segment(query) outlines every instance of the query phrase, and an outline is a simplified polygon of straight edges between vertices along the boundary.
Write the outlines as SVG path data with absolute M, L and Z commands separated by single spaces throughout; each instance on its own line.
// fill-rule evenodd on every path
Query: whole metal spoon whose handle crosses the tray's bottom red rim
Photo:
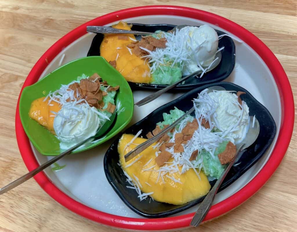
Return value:
M 253 116 L 250 116 L 250 120 L 253 120 Z M 237 144 L 236 147 L 238 147 L 238 151 L 236 153 L 235 158 L 233 159 L 233 161 L 227 166 L 227 168 L 225 169 L 225 171 L 222 173 L 222 175 L 220 176 L 220 178 L 217 180 L 217 182 L 214 184 L 214 186 L 212 187 L 212 189 L 208 192 L 208 194 L 206 195 L 206 197 L 204 198 L 204 200 L 201 202 L 200 206 L 198 207 L 198 210 L 196 211 L 190 225 L 192 226 L 198 226 L 202 220 L 205 218 L 206 214 L 208 213 L 209 209 L 211 208 L 211 204 L 214 201 L 214 197 L 217 194 L 217 191 L 219 189 L 219 186 L 221 186 L 223 180 L 225 179 L 227 173 L 229 172 L 230 168 L 233 166 L 233 164 L 235 162 L 238 161 L 238 158 L 240 158 L 240 156 L 242 155 L 242 150 L 244 150 L 245 148 L 249 147 L 250 145 L 252 145 L 260 132 L 260 125 L 258 120 L 255 118 L 255 124 L 254 127 L 252 127 L 252 123 L 251 126 L 249 128 L 249 131 L 247 132 L 247 135 L 244 139 L 244 141 L 242 141 L 241 143 Z

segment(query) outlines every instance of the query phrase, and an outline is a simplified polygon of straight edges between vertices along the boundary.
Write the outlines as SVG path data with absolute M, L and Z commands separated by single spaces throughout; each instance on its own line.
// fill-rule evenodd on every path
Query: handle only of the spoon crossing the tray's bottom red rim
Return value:
M 211 204 L 214 201 L 214 197 L 217 194 L 217 191 L 219 189 L 219 187 L 221 186 L 223 180 L 225 179 L 227 173 L 229 172 L 230 168 L 233 166 L 236 157 L 238 156 L 238 154 L 242 151 L 242 148 L 244 147 L 244 144 L 242 144 L 238 151 L 236 152 L 236 155 L 233 159 L 233 161 L 227 166 L 227 168 L 225 169 L 225 171 L 222 173 L 222 175 L 220 176 L 220 178 L 217 180 L 217 182 L 214 184 L 214 186 L 212 187 L 212 189 L 208 192 L 208 194 L 206 195 L 206 197 L 204 198 L 204 200 L 201 202 L 200 206 L 198 207 L 198 210 L 196 211 L 190 225 L 192 226 L 198 226 L 202 220 L 205 218 L 206 214 L 208 213 L 209 209 L 211 208 Z

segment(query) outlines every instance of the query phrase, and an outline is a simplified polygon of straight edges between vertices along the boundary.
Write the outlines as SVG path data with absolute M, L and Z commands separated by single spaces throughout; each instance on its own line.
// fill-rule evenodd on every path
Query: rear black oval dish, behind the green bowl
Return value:
M 157 30 L 165 31 L 171 30 L 175 27 L 175 25 L 170 24 L 138 24 L 138 23 L 132 23 L 132 30 L 136 31 L 143 31 L 143 32 L 155 32 Z M 218 35 L 226 34 L 225 32 L 221 32 L 216 30 Z M 89 49 L 89 52 L 87 56 L 100 56 L 100 44 L 103 40 L 102 34 L 97 34 L 92 40 L 91 47 Z M 141 36 L 136 36 L 137 40 L 140 40 Z M 179 84 L 176 87 L 172 88 L 170 91 L 176 92 L 180 90 L 192 90 L 194 88 L 197 88 L 199 86 L 205 85 L 205 84 L 211 84 L 218 81 L 225 80 L 230 73 L 233 71 L 233 68 L 235 66 L 235 44 L 233 40 L 228 37 L 224 36 L 219 40 L 219 48 L 225 47 L 222 52 L 222 60 L 219 63 L 219 65 L 214 69 L 211 70 L 203 75 L 203 77 L 196 78 L 196 77 L 190 77 L 185 81 L 184 84 Z M 129 85 L 132 90 L 137 89 L 163 89 L 167 85 L 164 84 L 144 84 L 144 83 L 134 83 L 129 82 Z

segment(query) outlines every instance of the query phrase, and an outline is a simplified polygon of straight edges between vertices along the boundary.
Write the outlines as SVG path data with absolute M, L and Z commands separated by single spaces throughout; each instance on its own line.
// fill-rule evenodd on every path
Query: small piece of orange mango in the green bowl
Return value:
M 55 114 L 51 113 L 51 111 L 58 112 L 61 106 L 55 101 L 51 101 L 48 104 L 48 101 L 43 101 L 44 99 L 45 97 L 38 98 L 31 103 L 29 116 L 47 128 L 51 133 L 56 134 L 54 130 Z

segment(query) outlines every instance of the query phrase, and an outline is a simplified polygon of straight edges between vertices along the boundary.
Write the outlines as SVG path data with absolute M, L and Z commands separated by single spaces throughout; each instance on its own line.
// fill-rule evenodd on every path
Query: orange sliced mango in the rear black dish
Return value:
M 131 30 L 131 27 L 123 21 L 120 21 L 112 27 Z M 127 40 L 119 39 L 123 36 L 126 37 Z M 130 50 L 131 54 L 127 48 L 128 44 L 134 42 L 133 40 L 135 40 L 134 35 L 105 35 L 100 45 L 100 55 L 108 62 L 116 60 L 116 70 L 118 70 L 127 81 L 150 83 L 151 74 L 149 64 L 144 59 L 133 54 L 133 49 Z

